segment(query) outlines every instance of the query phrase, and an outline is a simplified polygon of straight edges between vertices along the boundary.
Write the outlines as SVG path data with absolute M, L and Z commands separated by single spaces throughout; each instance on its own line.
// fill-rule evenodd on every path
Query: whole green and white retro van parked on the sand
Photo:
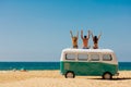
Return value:
M 63 49 L 60 73 L 66 78 L 78 76 L 102 76 L 111 79 L 118 75 L 118 61 L 110 49 Z

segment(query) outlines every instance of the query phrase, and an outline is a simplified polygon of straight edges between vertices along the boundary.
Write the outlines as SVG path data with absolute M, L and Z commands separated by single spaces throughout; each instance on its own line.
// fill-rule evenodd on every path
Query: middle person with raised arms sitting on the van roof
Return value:
M 88 49 L 88 39 L 90 39 L 91 32 L 88 30 L 87 36 L 83 37 L 83 30 L 81 30 L 81 38 L 83 41 L 83 49 Z

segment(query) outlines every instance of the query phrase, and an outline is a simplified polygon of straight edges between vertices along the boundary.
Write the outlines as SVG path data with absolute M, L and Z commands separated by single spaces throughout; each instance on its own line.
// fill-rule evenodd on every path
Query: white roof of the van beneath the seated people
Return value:
M 110 49 L 74 49 L 74 48 L 67 48 L 63 49 L 62 52 L 114 52 Z

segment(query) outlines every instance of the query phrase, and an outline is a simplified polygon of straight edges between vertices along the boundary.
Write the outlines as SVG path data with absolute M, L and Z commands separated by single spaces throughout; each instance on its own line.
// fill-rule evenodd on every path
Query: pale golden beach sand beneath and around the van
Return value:
M 131 87 L 131 71 L 120 71 L 111 80 L 100 76 L 64 78 L 59 71 L 0 71 L 0 87 Z

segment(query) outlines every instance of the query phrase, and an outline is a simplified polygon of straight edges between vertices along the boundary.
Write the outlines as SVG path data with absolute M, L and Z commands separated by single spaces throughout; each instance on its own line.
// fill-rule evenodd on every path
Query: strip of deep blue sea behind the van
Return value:
M 0 71 L 9 70 L 60 70 L 60 62 L 0 62 Z M 119 62 L 120 71 L 131 71 L 131 62 Z

